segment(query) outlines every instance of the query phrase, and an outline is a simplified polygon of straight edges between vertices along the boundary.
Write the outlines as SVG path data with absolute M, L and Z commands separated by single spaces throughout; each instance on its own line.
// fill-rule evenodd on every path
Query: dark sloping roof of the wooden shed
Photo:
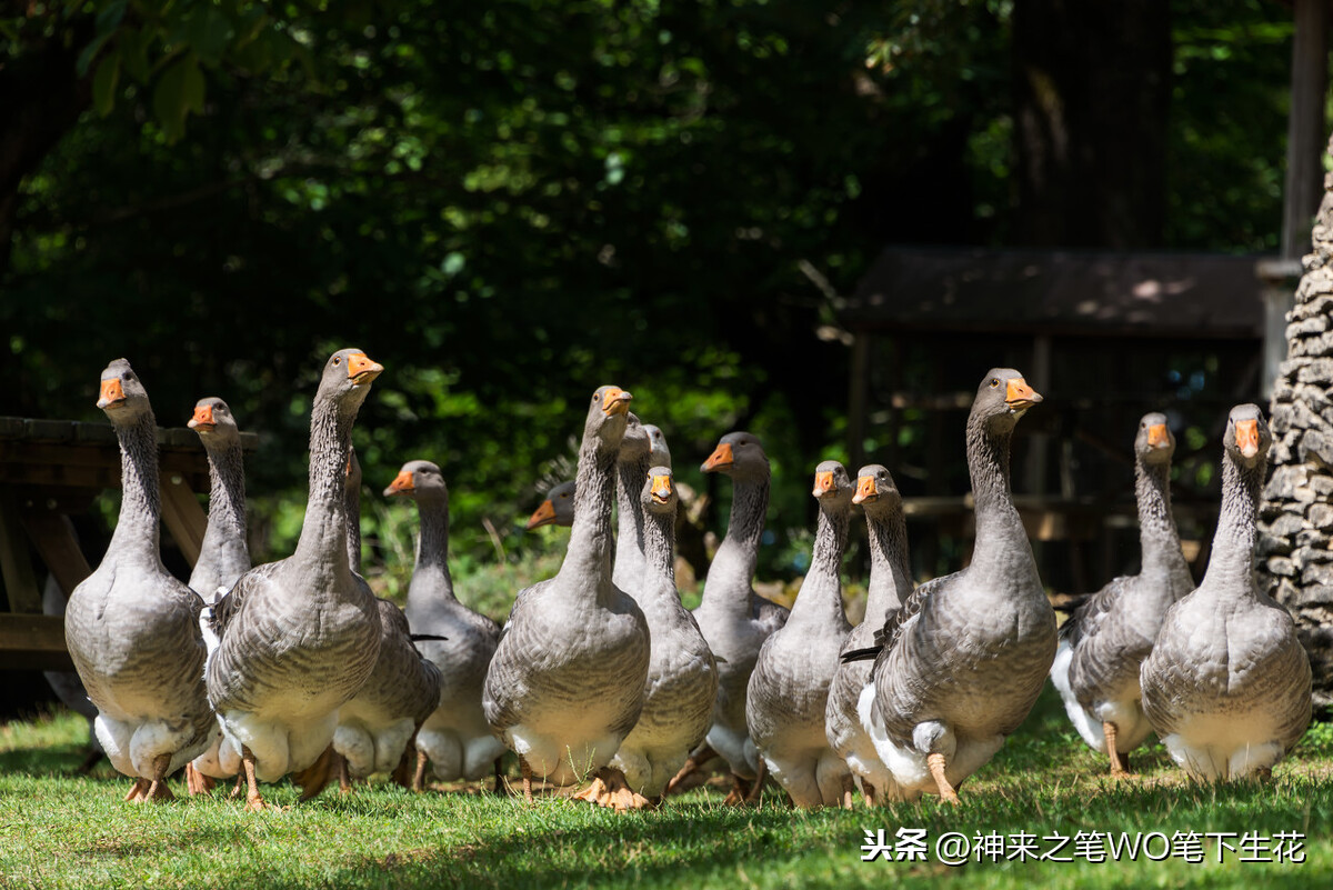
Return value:
M 841 310 L 852 330 L 1258 340 L 1262 257 L 886 248 Z

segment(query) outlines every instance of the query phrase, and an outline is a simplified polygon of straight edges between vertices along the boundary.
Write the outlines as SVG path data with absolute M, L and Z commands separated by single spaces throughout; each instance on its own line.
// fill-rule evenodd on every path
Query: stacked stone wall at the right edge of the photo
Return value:
M 1329 151 L 1333 152 L 1333 144 Z M 1314 705 L 1333 711 L 1333 175 L 1313 250 L 1288 313 L 1273 389 L 1273 474 L 1260 512 L 1261 584 L 1296 618 L 1314 669 Z

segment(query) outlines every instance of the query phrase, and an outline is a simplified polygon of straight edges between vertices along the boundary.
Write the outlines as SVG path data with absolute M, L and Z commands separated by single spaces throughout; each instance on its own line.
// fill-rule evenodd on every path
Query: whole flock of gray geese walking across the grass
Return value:
M 1254 405 L 1230 412 L 1212 560 L 1196 589 L 1170 512 L 1174 440 L 1146 414 L 1134 440 L 1140 574 L 1086 597 L 1057 628 L 1009 490 L 1009 446 L 1041 401 L 994 369 L 966 422 L 976 502 L 969 565 L 914 586 L 902 498 L 889 470 L 837 461 L 814 470 L 813 556 L 786 609 L 757 596 L 769 496 L 760 441 L 724 436 L 702 469 L 734 486 L 726 534 L 693 613 L 673 574 L 678 493 L 665 437 L 631 394 L 592 394 L 577 477 L 552 489 L 529 528 L 572 525 L 559 572 L 517 593 L 501 629 L 453 592 L 449 494 L 440 468 L 409 461 L 385 496 L 416 501 L 416 566 L 405 609 L 359 573 L 360 466 L 352 426 L 383 372 L 359 349 L 329 357 L 311 416 L 309 502 L 295 553 L 251 565 L 236 420 L 201 400 L 208 532 L 189 584 L 159 552 L 156 421 L 125 360 L 101 373 L 123 501 L 111 545 L 73 590 L 65 637 L 95 733 L 135 779 L 127 799 L 291 775 L 303 799 L 337 779 L 391 773 L 501 789 L 500 758 L 533 781 L 591 779 L 577 798 L 656 805 L 706 761 L 732 773 L 728 801 L 765 775 L 800 807 L 937 794 L 981 769 L 1028 715 L 1048 675 L 1112 775 L 1156 731 L 1193 778 L 1269 775 L 1310 719 L 1310 668 L 1290 616 L 1253 580 L 1270 434 Z M 613 517 L 613 505 L 616 505 Z M 861 508 L 870 544 L 865 620 L 842 610 L 841 564 Z M 613 525 L 616 526 L 613 530 Z

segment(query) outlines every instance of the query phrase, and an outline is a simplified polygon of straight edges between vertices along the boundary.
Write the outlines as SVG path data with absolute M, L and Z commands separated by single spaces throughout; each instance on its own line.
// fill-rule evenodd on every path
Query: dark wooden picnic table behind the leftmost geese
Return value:
M 241 433 L 241 448 L 259 437 Z M 193 565 L 208 517 L 196 492 L 208 490 L 208 458 L 187 428 L 157 430 L 161 516 L 167 533 Z M 64 594 L 92 569 L 69 517 L 87 512 L 105 489 L 120 486 L 120 445 L 109 424 L 0 417 L 0 670 L 71 670 L 64 620 L 41 613 L 33 554 Z

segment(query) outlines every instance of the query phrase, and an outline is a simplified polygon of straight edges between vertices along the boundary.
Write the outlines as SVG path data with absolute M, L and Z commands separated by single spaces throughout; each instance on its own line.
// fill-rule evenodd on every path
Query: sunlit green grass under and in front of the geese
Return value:
M 1137 753 L 1138 775 L 1117 783 L 1076 743 L 1050 689 L 964 786 L 956 810 L 932 798 L 878 811 L 801 813 L 773 790 L 758 809 L 732 810 L 713 786 L 659 811 L 616 814 L 559 798 L 528 809 L 513 798 L 412 795 L 380 783 L 257 815 L 217 793 L 132 806 L 120 799 L 128 779 L 105 765 L 91 777 L 69 775 L 85 737 L 83 721 L 68 714 L 0 726 L 0 887 L 1326 887 L 1333 874 L 1329 725 L 1312 729 L 1270 785 L 1185 783 L 1161 747 Z M 180 783 L 173 790 L 184 794 Z M 287 783 L 265 794 L 296 801 Z M 880 827 L 890 839 L 898 827 L 926 829 L 929 861 L 861 862 L 864 830 Z M 1140 857 L 949 867 L 933 850 L 946 831 L 1300 831 L 1306 861 L 1226 854 L 1218 865 L 1205 841 L 1200 865 Z

